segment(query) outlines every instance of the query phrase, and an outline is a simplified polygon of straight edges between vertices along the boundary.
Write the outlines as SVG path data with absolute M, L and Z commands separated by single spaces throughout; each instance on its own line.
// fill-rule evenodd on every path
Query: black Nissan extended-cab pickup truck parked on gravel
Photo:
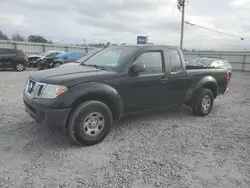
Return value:
M 82 145 L 100 142 L 126 114 L 186 104 L 205 116 L 230 80 L 225 69 L 186 68 L 171 46 L 109 47 L 83 59 L 30 74 L 23 92 L 30 116 Z

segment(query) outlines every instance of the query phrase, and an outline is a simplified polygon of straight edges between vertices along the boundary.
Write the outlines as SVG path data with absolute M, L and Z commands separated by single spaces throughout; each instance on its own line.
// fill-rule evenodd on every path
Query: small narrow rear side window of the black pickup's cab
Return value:
M 170 71 L 178 72 L 182 69 L 181 57 L 178 50 L 168 49 Z

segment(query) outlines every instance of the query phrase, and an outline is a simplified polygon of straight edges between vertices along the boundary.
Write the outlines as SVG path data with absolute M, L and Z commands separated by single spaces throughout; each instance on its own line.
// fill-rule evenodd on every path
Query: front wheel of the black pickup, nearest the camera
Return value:
M 71 113 L 67 131 L 75 143 L 94 145 L 107 136 L 112 123 L 113 116 L 106 104 L 99 101 L 87 101 Z

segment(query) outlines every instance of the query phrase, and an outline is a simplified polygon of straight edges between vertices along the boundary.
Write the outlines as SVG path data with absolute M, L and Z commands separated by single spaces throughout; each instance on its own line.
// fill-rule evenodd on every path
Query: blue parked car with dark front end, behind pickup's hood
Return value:
M 39 69 L 49 69 L 49 68 L 56 68 L 62 64 L 74 62 L 77 59 L 85 56 L 85 54 L 81 52 L 65 52 L 60 54 L 54 58 L 44 58 L 39 63 Z

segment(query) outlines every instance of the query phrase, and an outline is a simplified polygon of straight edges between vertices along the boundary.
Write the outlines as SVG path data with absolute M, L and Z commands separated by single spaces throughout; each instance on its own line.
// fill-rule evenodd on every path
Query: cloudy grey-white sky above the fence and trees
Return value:
M 0 30 L 11 36 L 39 34 L 55 43 L 179 46 L 177 0 L 1 0 Z M 229 37 L 185 25 L 184 48 L 249 49 L 250 0 L 189 0 L 185 21 L 243 37 Z

